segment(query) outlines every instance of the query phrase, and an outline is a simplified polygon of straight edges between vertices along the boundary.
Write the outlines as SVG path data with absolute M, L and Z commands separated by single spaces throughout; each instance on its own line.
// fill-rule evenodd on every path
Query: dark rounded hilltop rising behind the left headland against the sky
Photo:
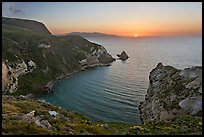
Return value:
M 43 23 L 37 22 L 34 20 L 2 17 L 2 24 L 14 25 L 14 26 L 30 29 L 32 31 L 39 32 L 41 34 L 51 34 L 51 32 L 49 32 L 49 30 Z

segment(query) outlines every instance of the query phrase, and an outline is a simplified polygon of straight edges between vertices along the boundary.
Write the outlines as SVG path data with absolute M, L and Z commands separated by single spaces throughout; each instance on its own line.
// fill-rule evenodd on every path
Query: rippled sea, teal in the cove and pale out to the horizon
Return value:
M 147 92 L 149 73 L 159 62 L 178 69 L 202 66 L 202 37 L 87 39 L 115 58 L 123 50 L 130 58 L 58 81 L 56 92 L 42 99 L 93 121 L 141 124 L 138 105 Z

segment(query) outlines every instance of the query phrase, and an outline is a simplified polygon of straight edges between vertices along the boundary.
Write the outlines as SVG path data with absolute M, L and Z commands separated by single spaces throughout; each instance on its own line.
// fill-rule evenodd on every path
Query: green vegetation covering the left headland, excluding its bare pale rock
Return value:
M 11 66 L 21 60 L 36 63 L 32 73 L 18 77 L 18 90 L 12 95 L 44 94 L 44 85 L 80 70 L 79 61 L 85 59 L 86 54 L 91 54 L 91 49 L 101 47 L 81 36 L 54 36 L 11 24 L 2 24 L 3 61 L 8 60 Z M 41 44 L 50 47 L 40 48 Z

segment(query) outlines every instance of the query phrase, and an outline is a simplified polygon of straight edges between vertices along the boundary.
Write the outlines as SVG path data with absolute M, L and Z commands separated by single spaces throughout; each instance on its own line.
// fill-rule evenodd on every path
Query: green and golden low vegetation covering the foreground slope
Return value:
M 181 116 L 169 121 L 151 121 L 143 125 L 117 122 L 93 122 L 75 112 L 23 97 L 3 96 L 2 134 L 5 135 L 187 135 L 202 134 L 202 117 Z M 43 115 L 51 129 L 34 122 L 23 121 L 19 116 L 35 110 L 35 116 Z M 48 111 L 56 111 L 64 117 L 53 117 Z

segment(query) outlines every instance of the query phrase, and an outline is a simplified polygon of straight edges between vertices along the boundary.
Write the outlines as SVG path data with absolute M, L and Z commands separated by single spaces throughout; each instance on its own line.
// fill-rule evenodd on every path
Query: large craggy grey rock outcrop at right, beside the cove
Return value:
M 139 106 L 144 122 L 202 112 L 202 67 L 178 70 L 159 63 L 149 75 L 145 100 Z

